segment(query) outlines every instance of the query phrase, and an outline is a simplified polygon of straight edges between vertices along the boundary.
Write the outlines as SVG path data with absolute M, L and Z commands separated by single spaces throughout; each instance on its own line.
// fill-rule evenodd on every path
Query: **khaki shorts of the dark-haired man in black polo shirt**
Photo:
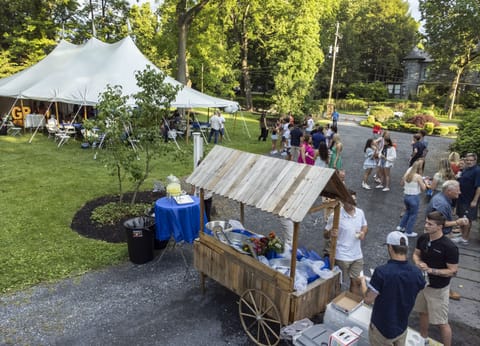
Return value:
M 443 288 L 425 287 L 418 293 L 413 309 L 428 314 L 430 324 L 447 324 L 449 293 L 450 285 Z

